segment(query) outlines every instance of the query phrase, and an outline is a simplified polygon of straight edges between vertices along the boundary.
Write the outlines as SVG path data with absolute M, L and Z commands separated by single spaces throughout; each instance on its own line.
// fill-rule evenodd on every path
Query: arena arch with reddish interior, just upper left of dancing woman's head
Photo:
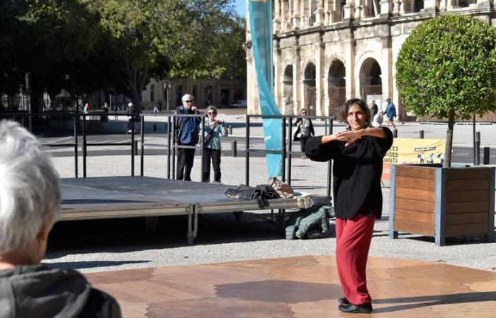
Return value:
M 342 61 L 334 60 L 329 67 L 327 82 L 329 86 L 329 116 L 336 116 L 339 107 L 346 101 L 346 69 Z

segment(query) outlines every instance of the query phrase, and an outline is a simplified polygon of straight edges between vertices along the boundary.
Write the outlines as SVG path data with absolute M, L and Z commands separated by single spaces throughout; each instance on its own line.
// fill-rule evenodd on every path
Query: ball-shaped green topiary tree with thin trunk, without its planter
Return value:
M 407 110 L 448 119 L 444 167 L 451 165 L 455 119 L 496 110 L 496 28 L 470 16 L 420 23 L 396 62 L 396 83 Z

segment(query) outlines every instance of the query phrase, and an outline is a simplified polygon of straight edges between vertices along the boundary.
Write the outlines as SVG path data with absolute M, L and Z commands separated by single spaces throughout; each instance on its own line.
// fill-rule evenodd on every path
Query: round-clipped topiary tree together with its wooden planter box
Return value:
M 496 110 L 496 28 L 470 16 L 438 16 L 417 25 L 396 62 L 407 110 L 447 119 L 442 167 L 391 169 L 390 236 L 483 234 L 494 240 L 494 167 L 451 167 L 455 119 Z

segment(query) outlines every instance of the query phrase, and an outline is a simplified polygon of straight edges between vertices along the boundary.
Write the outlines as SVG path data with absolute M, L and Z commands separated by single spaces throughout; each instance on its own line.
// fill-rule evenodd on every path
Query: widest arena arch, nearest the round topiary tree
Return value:
M 383 95 L 383 81 L 381 78 L 381 66 L 378 62 L 369 57 L 360 67 L 360 93 L 361 98 L 368 104 L 376 100 L 379 107 L 381 96 Z

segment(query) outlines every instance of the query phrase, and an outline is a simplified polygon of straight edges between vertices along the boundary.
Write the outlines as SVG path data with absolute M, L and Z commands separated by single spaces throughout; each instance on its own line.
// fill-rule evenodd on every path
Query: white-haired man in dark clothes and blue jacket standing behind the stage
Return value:
M 193 96 L 185 94 L 183 105 L 176 108 L 176 114 L 199 114 L 193 105 Z M 198 125 L 200 117 L 176 117 L 176 146 L 195 146 L 198 143 Z M 177 148 L 176 179 L 191 181 L 191 169 L 195 159 L 194 148 Z

